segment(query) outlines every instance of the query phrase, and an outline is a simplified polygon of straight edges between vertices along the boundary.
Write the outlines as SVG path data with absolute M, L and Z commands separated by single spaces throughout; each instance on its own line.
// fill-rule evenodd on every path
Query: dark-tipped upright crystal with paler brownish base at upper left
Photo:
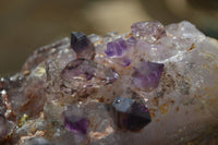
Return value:
M 77 58 L 94 59 L 95 47 L 84 33 L 71 33 L 71 48 L 76 52 Z

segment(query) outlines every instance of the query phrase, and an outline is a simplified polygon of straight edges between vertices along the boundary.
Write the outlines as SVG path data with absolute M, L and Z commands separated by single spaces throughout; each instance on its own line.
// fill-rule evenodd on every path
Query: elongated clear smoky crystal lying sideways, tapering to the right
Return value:
M 99 87 L 114 82 L 119 74 L 111 68 L 97 62 L 77 59 L 71 61 L 61 72 L 63 84 L 73 89 Z

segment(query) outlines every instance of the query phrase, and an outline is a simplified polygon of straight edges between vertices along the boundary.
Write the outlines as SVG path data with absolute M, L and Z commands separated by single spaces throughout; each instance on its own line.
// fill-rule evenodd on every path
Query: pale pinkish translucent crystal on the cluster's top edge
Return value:
M 144 37 L 148 43 L 155 43 L 166 35 L 165 27 L 159 22 L 137 22 L 131 29 L 135 37 Z

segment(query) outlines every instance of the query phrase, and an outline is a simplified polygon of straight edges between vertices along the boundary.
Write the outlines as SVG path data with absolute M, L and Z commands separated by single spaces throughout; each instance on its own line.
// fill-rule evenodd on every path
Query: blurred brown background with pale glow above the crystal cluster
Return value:
M 136 21 L 187 20 L 218 38 L 217 0 L 1 0 L 0 75 L 20 71 L 26 58 L 72 31 L 130 32 Z

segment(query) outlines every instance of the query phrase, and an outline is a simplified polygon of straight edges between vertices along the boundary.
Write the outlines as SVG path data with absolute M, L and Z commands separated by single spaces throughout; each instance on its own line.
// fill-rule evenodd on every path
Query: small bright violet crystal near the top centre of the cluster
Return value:
M 119 38 L 107 44 L 105 53 L 108 57 L 121 57 L 126 49 L 126 43 L 122 38 Z

